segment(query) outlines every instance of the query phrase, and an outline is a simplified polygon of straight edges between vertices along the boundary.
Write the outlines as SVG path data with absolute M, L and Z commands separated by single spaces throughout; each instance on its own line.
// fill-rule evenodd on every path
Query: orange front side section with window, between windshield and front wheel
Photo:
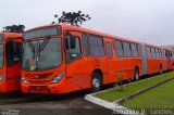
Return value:
M 65 55 L 66 55 L 66 77 L 72 79 L 70 90 L 80 90 L 90 87 L 89 75 L 87 74 L 87 61 L 82 53 L 82 35 L 71 33 L 64 37 Z

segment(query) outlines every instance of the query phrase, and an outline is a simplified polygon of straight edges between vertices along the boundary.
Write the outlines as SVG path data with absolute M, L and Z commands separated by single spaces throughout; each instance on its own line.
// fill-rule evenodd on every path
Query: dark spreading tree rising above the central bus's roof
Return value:
M 78 12 L 62 12 L 62 16 L 54 15 L 58 18 L 58 23 L 71 24 L 75 26 L 80 26 L 84 22 L 89 21 L 91 17 L 88 14 L 83 14 L 82 11 Z M 52 22 L 54 24 L 54 22 Z

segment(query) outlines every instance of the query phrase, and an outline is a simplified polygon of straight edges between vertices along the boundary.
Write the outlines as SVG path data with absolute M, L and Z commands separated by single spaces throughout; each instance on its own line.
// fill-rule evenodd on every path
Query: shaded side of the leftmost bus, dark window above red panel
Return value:
M 9 89 L 18 90 L 21 85 L 21 43 L 8 41 L 7 50 L 7 79 Z

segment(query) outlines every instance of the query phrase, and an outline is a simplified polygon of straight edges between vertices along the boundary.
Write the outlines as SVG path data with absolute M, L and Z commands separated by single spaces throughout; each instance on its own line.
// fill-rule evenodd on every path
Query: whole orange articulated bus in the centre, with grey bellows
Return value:
M 138 80 L 158 73 L 161 65 L 165 71 L 162 48 L 82 27 L 46 25 L 25 31 L 24 39 L 24 93 L 67 93 L 87 88 L 98 91 L 120 78 Z M 147 47 L 157 49 L 156 59 L 147 56 Z

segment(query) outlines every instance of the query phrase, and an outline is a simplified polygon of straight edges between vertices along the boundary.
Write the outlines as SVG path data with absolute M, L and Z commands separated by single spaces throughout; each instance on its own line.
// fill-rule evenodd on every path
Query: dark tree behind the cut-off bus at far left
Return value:
M 24 33 L 24 25 L 11 25 L 3 27 L 2 33 Z

